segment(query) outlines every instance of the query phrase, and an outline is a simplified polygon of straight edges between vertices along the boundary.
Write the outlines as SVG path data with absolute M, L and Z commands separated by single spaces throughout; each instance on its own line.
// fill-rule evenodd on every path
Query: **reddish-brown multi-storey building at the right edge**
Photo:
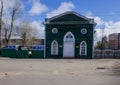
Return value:
M 113 50 L 120 49 L 120 33 L 113 33 L 109 35 L 109 48 Z

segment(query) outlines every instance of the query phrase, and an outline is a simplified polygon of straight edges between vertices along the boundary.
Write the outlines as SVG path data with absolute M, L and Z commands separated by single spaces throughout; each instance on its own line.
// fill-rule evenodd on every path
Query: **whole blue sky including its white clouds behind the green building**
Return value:
M 16 0 L 4 0 L 7 5 Z M 13 1 L 13 2 L 12 2 Z M 40 36 L 44 37 L 42 23 L 46 17 L 52 17 L 66 11 L 75 11 L 86 17 L 93 18 L 97 23 L 95 28 L 97 40 L 101 39 L 101 29 L 104 35 L 120 33 L 120 0 L 19 0 L 23 12 L 18 17 L 20 21 L 30 21 Z M 6 12 L 7 13 L 7 12 Z

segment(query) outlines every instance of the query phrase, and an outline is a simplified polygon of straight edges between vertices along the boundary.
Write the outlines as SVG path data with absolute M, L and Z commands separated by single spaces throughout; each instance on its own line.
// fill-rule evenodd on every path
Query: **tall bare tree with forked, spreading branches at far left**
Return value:
M 6 45 L 9 44 L 13 28 L 15 28 L 14 27 L 15 20 L 17 17 L 19 17 L 22 6 L 23 5 L 21 0 L 0 0 L 0 7 L 1 7 L 0 8 L 0 47 L 1 47 L 1 37 L 2 37 L 1 33 L 3 33 L 1 31 L 4 30 Z M 3 12 L 4 15 L 7 15 L 7 18 L 9 16 L 9 19 L 7 19 L 8 21 L 7 23 L 4 22 L 6 16 L 3 16 Z M 4 27 L 2 26 L 3 23 L 4 23 Z

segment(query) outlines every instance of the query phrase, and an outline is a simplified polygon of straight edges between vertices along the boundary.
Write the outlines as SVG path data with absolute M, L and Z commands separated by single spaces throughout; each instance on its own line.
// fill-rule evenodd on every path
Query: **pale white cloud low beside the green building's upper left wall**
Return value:
M 31 22 L 31 26 L 36 31 L 37 37 L 44 38 L 45 31 L 41 21 L 33 21 Z

